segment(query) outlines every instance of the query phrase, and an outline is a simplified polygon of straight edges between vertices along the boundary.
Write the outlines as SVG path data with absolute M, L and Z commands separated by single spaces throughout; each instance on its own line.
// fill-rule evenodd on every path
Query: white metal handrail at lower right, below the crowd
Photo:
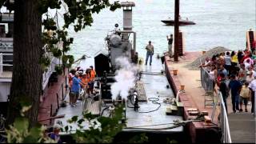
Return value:
M 221 127 L 222 127 L 222 142 L 232 143 L 230 136 L 230 125 L 226 114 L 226 107 L 223 101 L 222 93 L 218 90 L 218 96 L 221 99 Z

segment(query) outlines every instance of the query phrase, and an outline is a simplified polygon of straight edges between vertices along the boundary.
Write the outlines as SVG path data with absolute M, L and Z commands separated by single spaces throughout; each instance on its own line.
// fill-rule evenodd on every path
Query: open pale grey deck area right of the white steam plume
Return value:
M 178 115 L 166 115 L 166 107 L 170 107 L 170 104 L 164 103 L 163 100 L 166 98 L 173 98 L 175 94 L 170 89 L 169 82 L 167 81 L 166 75 L 161 74 L 161 70 L 164 69 L 160 59 L 152 58 L 152 66 L 148 65 L 139 66 L 139 69 L 142 70 L 141 81 L 138 81 L 140 84 L 139 89 L 142 91 L 141 102 L 138 103 L 140 108 L 138 112 L 135 112 L 134 109 L 128 108 L 126 110 L 127 115 L 127 127 L 138 127 L 144 126 L 141 128 L 150 128 L 155 130 L 133 130 L 126 129 L 126 131 L 139 131 L 139 132 L 151 132 L 151 133 L 182 133 L 183 126 L 178 128 L 169 129 L 169 130 L 158 130 L 164 129 L 166 127 L 174 126 L 174 124 L 165 125 L 165 126 L 153 126 L 163 123 L 171 123 L 174 120 L 183 120 L 182 116 Z M 156 100 L 155 102 L 160 103 L 154 104 L 150 99 Z M 160 107 L 158 107 L 160 106 Z M 151 112 L 150 112 L 151 111 Z

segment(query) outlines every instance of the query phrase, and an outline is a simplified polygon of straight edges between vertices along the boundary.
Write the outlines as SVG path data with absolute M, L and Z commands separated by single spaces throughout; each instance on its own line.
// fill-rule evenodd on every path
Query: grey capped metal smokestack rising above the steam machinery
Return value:
M 121 2 L 123 10 L 123 30 L 132 30 L 133 29 L 133 15 L 132 10 L 135 6 L 134 2 Z

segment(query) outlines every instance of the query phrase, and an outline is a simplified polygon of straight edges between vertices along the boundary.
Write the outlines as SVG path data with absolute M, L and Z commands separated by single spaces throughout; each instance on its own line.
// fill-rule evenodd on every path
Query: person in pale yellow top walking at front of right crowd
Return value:
M 242 102 L 245 104 L 245 111 L 248 112 L 247 110 L 247 102 L 248 99 L 250 98 L 250 89 L 249 89 L 249 83 L 245 82 L 245 84 L 242 86 L 242 89 L 240 91 L 240 112 L 242 112 Z

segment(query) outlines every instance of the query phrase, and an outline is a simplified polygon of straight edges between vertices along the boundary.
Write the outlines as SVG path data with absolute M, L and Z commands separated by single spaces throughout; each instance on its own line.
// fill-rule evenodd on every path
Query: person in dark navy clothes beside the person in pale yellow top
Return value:
M 229 90 L 231 91 L 231 101 L 233 112 L 236 113 L 236 110 L 239 110 L 239 90 L 241 90 L 241 83 L 236 80 L 235 75 L 230 76 Z

